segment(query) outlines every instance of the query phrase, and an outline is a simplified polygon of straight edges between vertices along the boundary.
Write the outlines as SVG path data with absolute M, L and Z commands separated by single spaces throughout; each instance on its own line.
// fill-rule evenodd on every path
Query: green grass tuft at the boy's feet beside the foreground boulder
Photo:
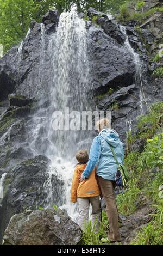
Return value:
M 92 227 L 91 221 L 89 221 L 87 225 L 85 223 L 85 230 L 83 232 L 83 237 L 82 237 L 82 241 L 84 245 L 102 245 L 102 241 L 99 240 L 99 236 L 103 236 L 104 238 L 107 237 L 106 231 L 108 230 L 109 223 L 108 223 L 108 217 L 106 216 L 106 213 L 104 210 L 102 211 L 102 222 L 97 232 L 95 229 L 95 225 L 96 225 L 96 221 L 93 227 Z

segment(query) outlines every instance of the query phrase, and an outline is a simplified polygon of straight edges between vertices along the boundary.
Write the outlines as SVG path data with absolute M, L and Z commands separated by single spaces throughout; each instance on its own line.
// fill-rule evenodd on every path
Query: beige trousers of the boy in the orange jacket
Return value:
M 100 200 L 99 196 L 97 197 L 85 197 L 81 198 L 78 197 L 78 204 L 79 204 L 79 226 L 82 230 L 85 229 L 85 222 L 86 224 L 89 221 L 89 209 L 90 209 L 90 204 L 92 206 L 92 228 L 94 227 L 95 223 L 95 229 L 94 231 L 97 231 L 99 228 L 100 224 Z M 96 222 L 95 222 L 96 220 Z

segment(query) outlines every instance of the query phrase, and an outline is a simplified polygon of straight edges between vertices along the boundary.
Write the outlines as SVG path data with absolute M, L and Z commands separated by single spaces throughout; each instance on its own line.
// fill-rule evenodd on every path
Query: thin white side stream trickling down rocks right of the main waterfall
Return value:
M 126 28 L 124 26 L 120 25 L 120 29 L 121 29 L 121 32 L 126 35 L 126 41 L 124 42 L 124 47 L 126 47 L 129 54 L 131 54 L 131 56 L 133 57 L 134 63 L 135 63 L 135 67 L 136 67 L 135 83 L 139 85 L 140 112 L 141 112 L 141 114 L 143 114 L 143 99 L 146 101 L 146 97 L 145 97 L 145 94 L 143 93 L 142 64 L 141 64 L 140 56 L 138 53 L 136 53 L 134 51 L 133 47 L 131 47 L 129 39 L 128 39 L 128 35 L 126 32 Z

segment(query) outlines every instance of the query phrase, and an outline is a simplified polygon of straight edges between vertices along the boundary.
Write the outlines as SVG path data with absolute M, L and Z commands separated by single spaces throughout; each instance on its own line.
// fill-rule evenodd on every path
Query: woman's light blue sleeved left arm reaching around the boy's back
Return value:
M 97 166 L 100 153 L 101 153 L 101 147 L 98 142 L 98 136 L 97 136 L 93 139 L 93 142 L 91 145 L 89 161 L 87 162 L 87 166 L 82 174 L 83 179 L 89 178 L 89 175 L 91 174 L 92 170 L 95 168 L 95 166 Z

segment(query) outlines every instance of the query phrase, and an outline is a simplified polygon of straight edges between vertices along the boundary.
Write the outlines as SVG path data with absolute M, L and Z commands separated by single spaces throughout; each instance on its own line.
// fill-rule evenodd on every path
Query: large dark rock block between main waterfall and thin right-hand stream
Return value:
M 88 33 L 93 89 L 103 92 L 133 83 L 135 63 L 127 50 L 101 28 L 91 26 Z

